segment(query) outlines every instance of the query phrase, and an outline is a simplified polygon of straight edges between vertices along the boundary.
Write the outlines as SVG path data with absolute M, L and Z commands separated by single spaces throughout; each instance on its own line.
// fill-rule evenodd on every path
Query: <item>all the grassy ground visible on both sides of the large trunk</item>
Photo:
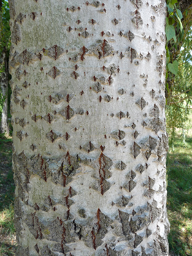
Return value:
M 0 255 L 15 255 L 13 225 L 14 183 L 11 170 L 11 139 L 0 138 Z M 192 134 L 185 146 L 180 135 L 174 151 L 167 158 L 167 208 L 171 232 L 169 251 L 172 256 L 192 255 Z

